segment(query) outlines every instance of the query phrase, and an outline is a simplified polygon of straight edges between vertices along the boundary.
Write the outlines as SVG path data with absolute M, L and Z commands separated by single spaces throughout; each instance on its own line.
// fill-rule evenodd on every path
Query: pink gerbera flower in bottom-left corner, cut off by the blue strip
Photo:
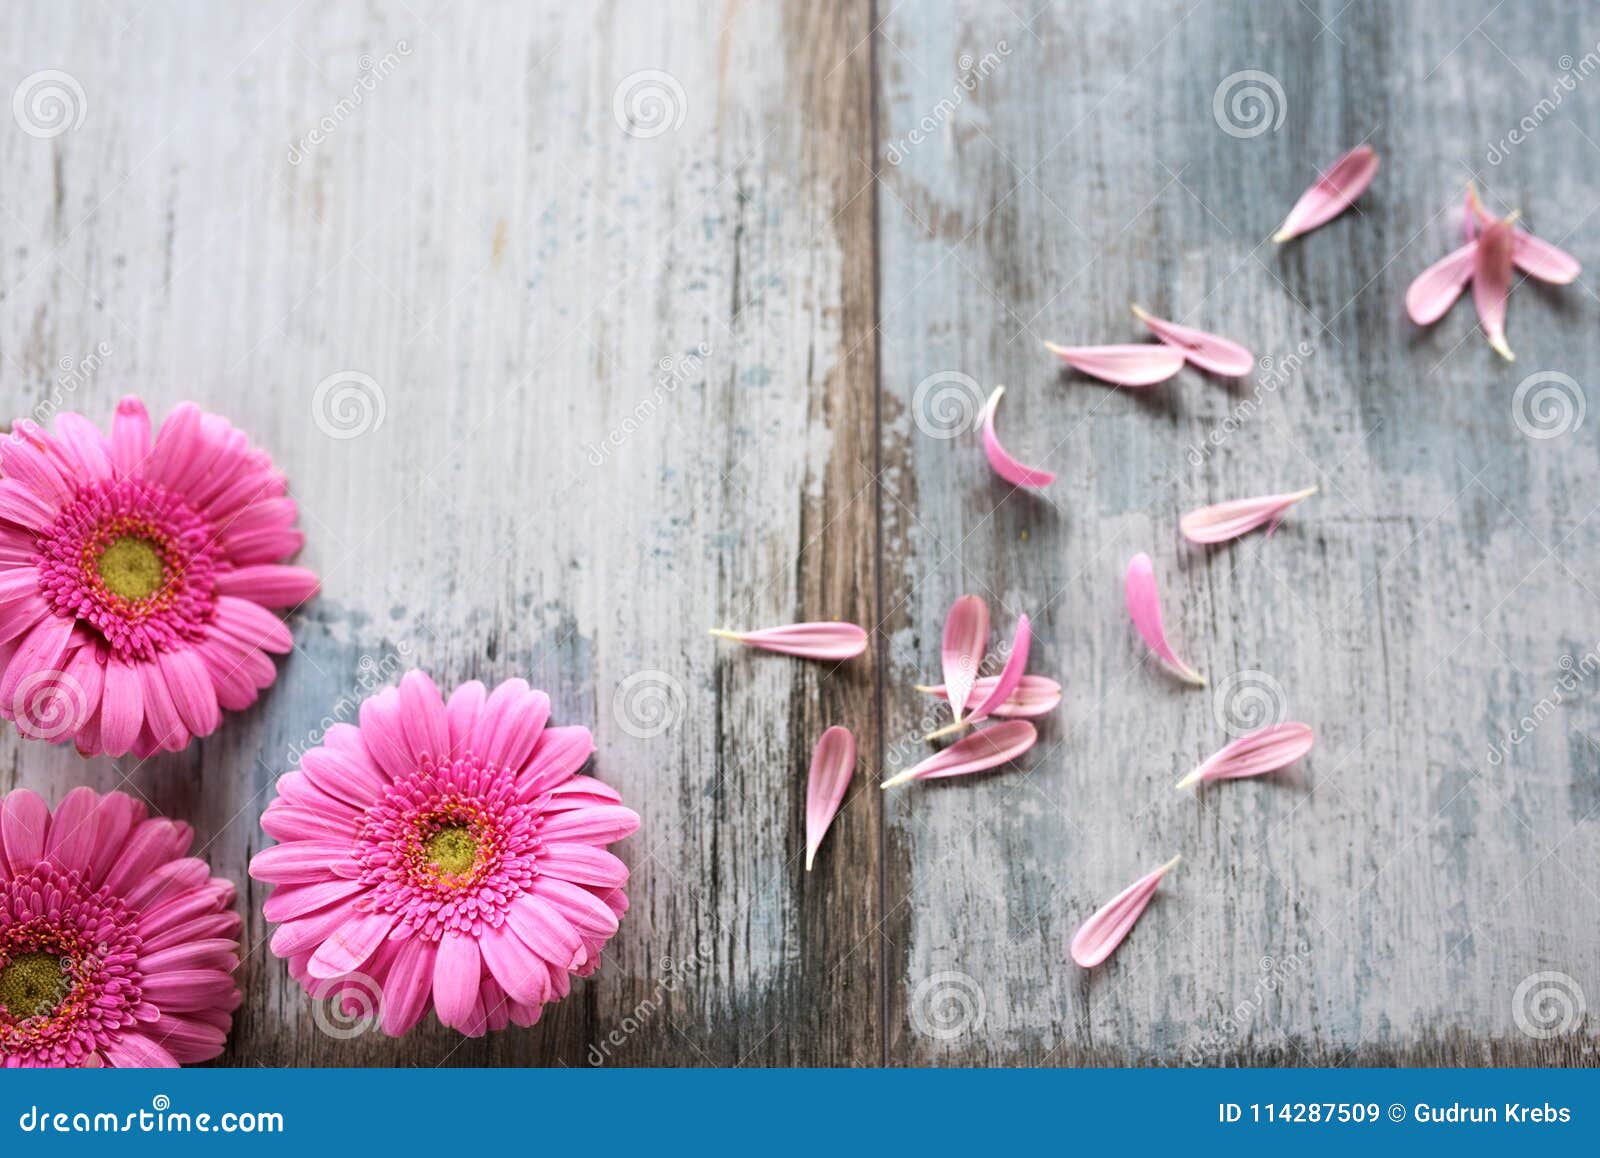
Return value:
M 222 1052 L 238 1008 L 234 886 L 194 832 L 74 789 L 0 800 L 0 1065 L 178 1065 Z

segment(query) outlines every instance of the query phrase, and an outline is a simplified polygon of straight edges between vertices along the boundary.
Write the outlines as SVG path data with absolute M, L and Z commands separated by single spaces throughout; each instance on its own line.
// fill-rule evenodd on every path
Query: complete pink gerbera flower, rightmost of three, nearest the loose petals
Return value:
M 445 704 L 410 672 L 333 725 L 278 779 L 261 827 L 282 841 L 250 875 L 272 952 L 317 998 L 370 1000 L 398 1036 L 429 1006 L 470 1036 L 533 1025 L 589 976 L 627 910 L 627 867 L 605 846 L 638 829 L 613 789 L 576 776 L 587 728 L 546 728 L 523 680 Z

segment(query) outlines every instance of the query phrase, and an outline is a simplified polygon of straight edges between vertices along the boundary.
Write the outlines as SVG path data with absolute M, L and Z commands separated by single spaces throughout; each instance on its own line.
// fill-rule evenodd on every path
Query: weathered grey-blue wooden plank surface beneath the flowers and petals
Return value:
M 1560 972 L 1600 1001 L 1597 675 L 1558 683 L 1600 646 L 1597 422 L 1533 438 L 1512 398 L 1557 371 L 1600 406 L 1600 297 L 1589 272 L 1518 286 L 1514 366 L 1470 302 L 1427 331 L 1402 310 L 1474 174 L 1600 269 L 1600 82 L 1534 112 L 1600 53 L 1582 5 L 22 3 L 0 27 L 0 88 L 56 69 L 85 99 L 58 136 L 0 128 L 6 409 L 227 414 L 325 576 L 270 694 L 189 752 L 0 739 L 0 787 L 136 790 L 242 881 L 224 1064 L 1595 1062 L 1592 1014 L 1541 1040 L 1517 996 Z M 1245 70 L 1277 128 L 1214 112 Z M 1363 139 L 1358 211 L 1267 242 Z M 1133 393 L 1043 352 L 1138 341 L 1133 301 L 1261 371 Z M 381 421 L 318 408 L 341 373 Z M 1043 496 L 941 437 L 1000 382 Z M 1270 539 L 1178 539 L 1189 507 L 1310 483 Z M 1206 691 L 1141 653 L 1138 550 Z M 1067 699 L 1019 769 L 880 793 L 928 752 L 910 688 L 963 592 L 997 637 L 1032 617 Z M 824 617 L 875 648 L 706 635 Z M 411 665 L 547 688 L 643 817 L 605 966 L 531 1030 L 330 1033 L 266 948 L 245 865 L 272 779 Z M 1171 792 L 1262 704 L 1317 726 L 1299 769 Z M 862 771 L 805 873 L 832 723 Z M 1123 950 L 1072 966 L 1078 921 L 1179 851 Z

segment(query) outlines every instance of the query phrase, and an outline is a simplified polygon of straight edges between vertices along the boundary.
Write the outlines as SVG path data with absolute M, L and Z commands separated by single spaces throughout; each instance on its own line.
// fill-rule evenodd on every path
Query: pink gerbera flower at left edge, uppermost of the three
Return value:
M 312 597 L 283 475 L 194 403 L 0 438 L 0 715 L 85 755 L 176 752 L 277 677 Z

